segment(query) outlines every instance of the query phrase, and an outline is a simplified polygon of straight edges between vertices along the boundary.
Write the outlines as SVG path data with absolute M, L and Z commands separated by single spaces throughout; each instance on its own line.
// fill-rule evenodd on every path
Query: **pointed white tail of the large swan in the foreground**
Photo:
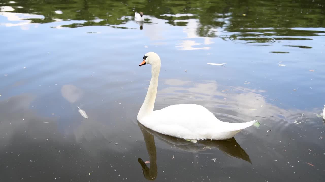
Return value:
M 215 137 L 212 137 L 214 140 L 227 140 L 229 138 L 234 137 L 237 133 L 239 133 L 242 129 L 252 126 L 257 120 L 245 122 L 245 123 L 228 123 L 223 122 L 224 128 L 226 130 L 219 131 Z

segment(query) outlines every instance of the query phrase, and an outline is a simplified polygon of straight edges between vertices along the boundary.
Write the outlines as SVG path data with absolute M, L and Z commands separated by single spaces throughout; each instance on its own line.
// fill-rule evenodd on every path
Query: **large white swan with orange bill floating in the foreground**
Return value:
M 143 62 L 139 66 L 145 64 L 151 64 L 151 80 L 146 98 L 137 115 L 138 121 L 145 127 L 184 139 L 226 140 L 256 122 L 256 120 L 245 123 L 222 122 L 208 109 L 196 104 L 178 104 L 154 111 L 161 67 L 160 57 L 155 52 L 148 52 L 143 56 Z

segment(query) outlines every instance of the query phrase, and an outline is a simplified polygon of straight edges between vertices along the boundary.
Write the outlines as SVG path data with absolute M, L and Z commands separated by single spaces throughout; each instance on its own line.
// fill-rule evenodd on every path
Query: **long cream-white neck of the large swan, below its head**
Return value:
M 157 88 L 158 88 L 158 76 L 160 72 L 160 64 L 152 65 L 151 67 L 151 80 L 148 87 L 146 98 L 140 108 L 138 113 L 138 118 L 141 118 L 153 111 L 153 107 L 155 105 Z

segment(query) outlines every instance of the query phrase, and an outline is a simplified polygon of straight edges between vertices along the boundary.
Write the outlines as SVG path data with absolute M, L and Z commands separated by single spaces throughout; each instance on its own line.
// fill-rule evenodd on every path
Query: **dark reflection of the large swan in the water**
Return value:
M 143 134 L 144 141 L 146 142 L 147 151 L 149 154 L 150 167 L 148 167 L 147 164 L 143 162 L 141 158 L 138 158 L 138 162 L 142 166 L 144 177 L 148 180 L 153 181 L 158 175 L 157 151 L 154 136 L 156 138 L 159 138 L 163 142 L 183 151 L 195 153 L 206 151 L 212 148 L 217 148 L 229 156 L 245 160 L 252 164 L 248 154 L 246 154 L 245 150 L 240 147 L 234 137 L 228 140 L 199 140 L 198 142 L 193 143 L 181 138 L 171 137 L 150 130 L 139 122 L 138 126 Z

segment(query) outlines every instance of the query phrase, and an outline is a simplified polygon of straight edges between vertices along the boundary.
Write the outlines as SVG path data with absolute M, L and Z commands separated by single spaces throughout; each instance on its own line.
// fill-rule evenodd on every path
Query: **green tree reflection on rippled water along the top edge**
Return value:
M 43 15 L 32 19 L 35 23 L 48 23 L 55 18 L 81 20 L 68 27 L 91 25 L 122 25 L 133 18 L 134 11 L 167 20 L 175 26 L 187 25 L 189 18 L 198 19 L 197 35 L 214 37 L 214 28 L 229 32 L 265 31 L 268 35 L 310 36 L 316 32 L 299 31 L 292 27 L 325 27 L 325 1 L 323 0 L 0 0 L 2 5 L 22 6 L 19 13 Z M 61 10 L 63 14 L 54 11 Z M 133 11 L 134 10 L 134 11 Z M 193 14 L 171 17 L 163 14 Z M 246 16 L 243 16 L 245 14 Z M 95 21 L 94 21 L 95 20 Z M 175 22 L 175 20 L 180 20 Z M 266 28 L 261 30 L 260 28 Z

